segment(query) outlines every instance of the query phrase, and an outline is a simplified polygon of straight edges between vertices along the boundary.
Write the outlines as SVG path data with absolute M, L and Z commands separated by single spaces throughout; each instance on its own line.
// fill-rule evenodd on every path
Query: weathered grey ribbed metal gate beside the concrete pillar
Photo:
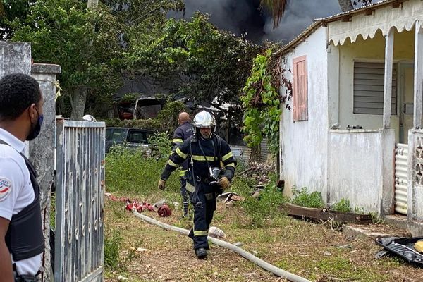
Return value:
M 56 123 L 54 281 L 103 281 L 105 124 Z

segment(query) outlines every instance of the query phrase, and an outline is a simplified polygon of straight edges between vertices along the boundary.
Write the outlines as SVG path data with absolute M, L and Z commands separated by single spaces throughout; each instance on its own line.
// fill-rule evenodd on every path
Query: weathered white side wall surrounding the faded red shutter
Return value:
M 319 190 L 327 188 L 327 53 L 326 28 L 319 27 L 298 47 L 286 55 L 286 77 L 292 81 L 293 58 L 307 55 L 308 121 L 293 122 L 293 112 L 281 115 L 281 179 L 287 195 L 293 185 Z M 281 92 L 285 92 L 282 90 Z

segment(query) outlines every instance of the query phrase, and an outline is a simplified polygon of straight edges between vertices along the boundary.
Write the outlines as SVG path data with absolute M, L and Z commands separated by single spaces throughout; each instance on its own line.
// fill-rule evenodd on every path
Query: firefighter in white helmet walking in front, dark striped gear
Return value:
M 195 255 L 207 257 L 207 234 L 216 210 L 216 197 L 228 188 L 235 173 L 236 161 L 228 143 L 214 134 L 216 122 L 212 114 L 201 111 L 193 120 L 194 135 L 185 140 L 169 157 L 159 189 L 164 190 L 172 171 L 188 160 L 186 190 L 194 205 L 194 226 L 189 237 L 194 241 Z

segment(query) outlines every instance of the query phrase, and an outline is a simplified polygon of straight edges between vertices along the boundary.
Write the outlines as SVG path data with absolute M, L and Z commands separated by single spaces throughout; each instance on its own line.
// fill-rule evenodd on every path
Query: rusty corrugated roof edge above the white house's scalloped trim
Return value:
M 329 16 L 329 17 L 326 17 L 326 18 L 317 18 L 317 19 L 314 20 L 314 23 L 312 23 L 311 25 L 309 25 L 309 27 L 307 27 L 305 30 L 303 30 L 300 33 L 300 35 L 298 35 L 297 37 L 292 39 L 288 44 L 284 45 L 281 49 L 279 49 L 276 52 L 276 54 L 285 53 L 285 51 L 287 51 L 288 49 L 297 46 L 297 44 L 299 44 L 301 42 L 301 39 L 303 37 L 308 36 L 310 33 L 314 32 L 314 30 L 316 30 L 321 25 L 324 25 L 325 23 L 330 23 L 330 22 L 334 22 L 336 20 L 341 20 L 341 18 L 343 18 L 345 16 L 350 16 L 350 15 L 353 15 L 355 13 L 361 13 L 362 11 L 366 11 L 366 10 L 369 10 L 369 9 L 372 9 L 372 8 L 375 8 L 375 7 L 385 6 L 386 4 L 390 4 L 390 3 L 395 2 L 395 1 L 398 1 L 398 0 L 377 1 L 373 4 L 362 6 L 360 8 L 355 8 L 351 11 L 347 11 L 347 12 L 343 12 L 343 13 L 337 13 L 336 15 Z

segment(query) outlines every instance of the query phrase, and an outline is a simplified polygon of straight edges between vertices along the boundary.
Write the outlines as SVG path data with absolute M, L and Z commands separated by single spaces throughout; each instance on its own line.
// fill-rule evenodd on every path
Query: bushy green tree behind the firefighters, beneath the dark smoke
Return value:
M 128 53 L 127 65 L 137 69 L 137 75 L 154 80 L 175 98 L 207 102 L 222 114 L 229 114 L 223 104 L 240 104 L 239 91 L 259 52 L 257 45 L 218 30 L 200 13 L 190 21 L 167 20 L 162 33 L 148 47 L 143 44 Z M 242 111 L 231 114 L 240 121 Z

